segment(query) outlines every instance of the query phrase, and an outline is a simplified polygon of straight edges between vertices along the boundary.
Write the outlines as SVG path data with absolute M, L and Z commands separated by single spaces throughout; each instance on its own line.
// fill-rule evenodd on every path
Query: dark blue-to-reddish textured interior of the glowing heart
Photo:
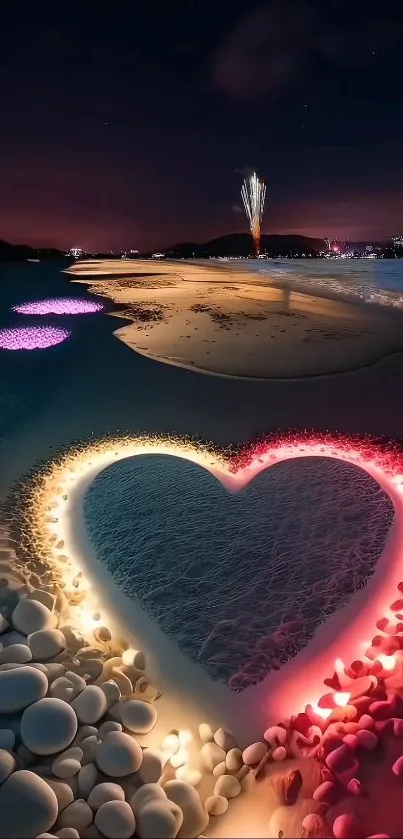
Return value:
M 85 495 L 89 536 L 118 587 L 233 690 L 297 655 L 365 586 L 383 549 L 386 493 L 317 454 L 278 457 L 230 488 L 181 457 L 138 455 Z

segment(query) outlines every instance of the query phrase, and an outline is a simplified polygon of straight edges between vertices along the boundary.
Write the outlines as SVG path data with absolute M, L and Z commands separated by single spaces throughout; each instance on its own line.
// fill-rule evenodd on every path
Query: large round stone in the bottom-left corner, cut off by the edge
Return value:
M 31 839 L 54 825 L 57 798 L 42 778 L 21 769 L 0 787 L 0 814 L 0 839 Z

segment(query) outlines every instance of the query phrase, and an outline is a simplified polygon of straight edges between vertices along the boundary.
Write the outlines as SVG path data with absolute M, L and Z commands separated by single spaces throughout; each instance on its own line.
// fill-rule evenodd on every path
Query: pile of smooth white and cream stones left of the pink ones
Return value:
M 144 745 L 160 696 L 145 657 L 106 626 L 84 639 L 64 623 L 66 601 L 55 585 L 25 585 L 1 606 L 0 839 L 200 836 L 241 792 L 241 751 L 207 724 L 197 766 L 189 733 Z

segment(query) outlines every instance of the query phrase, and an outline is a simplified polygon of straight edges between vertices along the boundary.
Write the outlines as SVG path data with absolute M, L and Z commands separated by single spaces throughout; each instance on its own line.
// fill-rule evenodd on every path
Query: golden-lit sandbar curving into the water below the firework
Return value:
M 231 268 L 152 261 L 69 269 L 130 325 L 116 336 L 149 358 L 246 378 L 363 367 L 403 348 L 401 315 L 266 285 Z

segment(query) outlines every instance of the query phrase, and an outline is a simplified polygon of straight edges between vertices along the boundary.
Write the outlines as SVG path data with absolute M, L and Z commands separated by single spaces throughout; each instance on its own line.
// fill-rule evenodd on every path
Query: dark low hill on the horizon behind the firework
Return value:
M 261 239 L 261 253 L 268 256 L 316 256 L 324 250 L 323 239 L 307 236 L 264 234 Z M 163 249 L 171 259 L 205 259 L 210 256 L 248 257 L 253 256 L 252 237 L 248 233 L 228 233 L 210 242 L 181 242 Z

